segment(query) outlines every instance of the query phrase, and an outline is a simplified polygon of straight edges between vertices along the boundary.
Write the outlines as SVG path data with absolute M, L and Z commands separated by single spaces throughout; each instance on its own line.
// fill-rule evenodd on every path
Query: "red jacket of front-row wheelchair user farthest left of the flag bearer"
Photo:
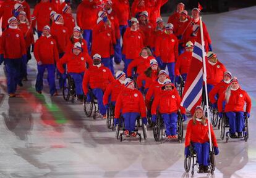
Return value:
M 120 118 L 120 113 L 140 113 L 146 117 L 146 107 L 143 95 L 137 89 L 124 88 L 117 97 L 114 117 Z

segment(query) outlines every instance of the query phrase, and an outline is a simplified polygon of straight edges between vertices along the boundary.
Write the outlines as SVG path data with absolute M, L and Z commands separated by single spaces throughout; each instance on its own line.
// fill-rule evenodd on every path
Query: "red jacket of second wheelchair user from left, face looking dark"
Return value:
M 87 94 L 88 87 L 91 89 L 100 88 L 105 91 L 109 83 L 114 81 L 114 77 L 109 68 L 92 66 L 83 76 L 83 93 Z

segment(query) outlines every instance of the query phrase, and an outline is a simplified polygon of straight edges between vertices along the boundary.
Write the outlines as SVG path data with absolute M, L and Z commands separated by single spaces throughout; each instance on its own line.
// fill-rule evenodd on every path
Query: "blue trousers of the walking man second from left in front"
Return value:
M 36 91 L 41 92 L 43 90 L 43 74 L 47 68 L 47 80 L 49 83 L 49 93 L 53 95 L 56 92 L 55 86 L 55 65 L 54 64 L 42 64 L 37 65 L 38 74 L 36 76 Z

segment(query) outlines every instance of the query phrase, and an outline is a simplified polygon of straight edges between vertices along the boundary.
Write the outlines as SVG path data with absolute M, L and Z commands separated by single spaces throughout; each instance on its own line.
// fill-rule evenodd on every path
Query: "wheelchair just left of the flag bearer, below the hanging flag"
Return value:
M 177 140 L 179 143 L 181 143 L 182 139 L 183 139 L 183 117 L 180 112 L 178 112 L 177 115 L 178 115 L 178 117 L 177 117 Z M 156 116 L 156 124 L 153 127 L 153 135 L 154 135 L 155 141 L 159 142 L 159 140 L 160 140 L 161 144 L 163 143 L 163 138 L 164 138 L 163 129 L 164 129 L 164 121 L 163 121 L 163 118 L 161 117 L 160 113 L 158 113 Z

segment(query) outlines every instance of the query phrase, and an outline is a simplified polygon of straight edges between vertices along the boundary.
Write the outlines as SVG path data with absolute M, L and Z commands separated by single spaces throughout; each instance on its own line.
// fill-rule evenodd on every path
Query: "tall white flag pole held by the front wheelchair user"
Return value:
M 206 63 L 205 63 L 205 41 L 203 40 L 203 23 L 202 17 L 200 17 L 200 32 L 201 32 L 201 40 L 202 40 L 202 57 L 203 57 L 203 82 L 205 83 L 205 97 L 207 103 L 207 116 L 210 116 L 209 113 L 209 103 L 208 103 L 208 91 L 207 91 L 207 70 L 206 70 Z M 210 141 L 210 152 L 212 152 L 213 148 L 211 147 L 211 127 L 210 127 L 210 118 L 208 118 L 208 136 Z

